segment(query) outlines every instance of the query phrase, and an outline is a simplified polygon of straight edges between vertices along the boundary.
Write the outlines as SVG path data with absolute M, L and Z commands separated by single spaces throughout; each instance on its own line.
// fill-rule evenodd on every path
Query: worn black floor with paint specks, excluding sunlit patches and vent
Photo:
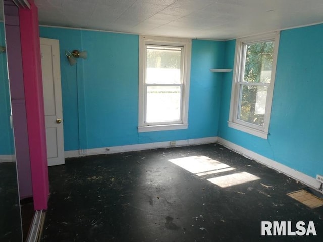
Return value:
M 197 176 L 169 161 L 189 156 L 235 170 Z M 260 179 L 207 180 L 240 172 Z M 323 207 L 286 195 L 304 185 L 218 144 L 68 159 L 49 178 L 43 242 L 323 241 Z M 313 221 L 317 236 L 261 236 L 261 221 Z

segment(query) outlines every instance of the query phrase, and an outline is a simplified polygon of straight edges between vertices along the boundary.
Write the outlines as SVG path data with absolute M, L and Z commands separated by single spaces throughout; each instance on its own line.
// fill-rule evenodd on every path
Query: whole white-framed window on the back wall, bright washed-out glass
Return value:
M 191 40 L 140 36 L 139 132 L 187 129 Z

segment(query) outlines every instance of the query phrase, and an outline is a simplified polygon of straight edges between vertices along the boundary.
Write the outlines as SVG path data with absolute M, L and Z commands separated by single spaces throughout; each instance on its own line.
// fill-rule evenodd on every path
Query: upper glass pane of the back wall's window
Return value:
M 181 84 L 181 48 L 147 46 L 146 83 Z

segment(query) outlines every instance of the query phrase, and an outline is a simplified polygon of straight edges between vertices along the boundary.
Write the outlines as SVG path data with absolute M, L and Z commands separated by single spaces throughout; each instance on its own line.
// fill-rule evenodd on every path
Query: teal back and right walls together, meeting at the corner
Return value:
M 281 32 L 268 139 L 228 127 L 235 40 L 192 41 L 189 128 L 138 133 L 138 36 L 41 27 L 60 40 L 65 150 L 219 136 L 314 177 L 323 173 L 323 25 Z M 69 66 L 64 50 L 88 51 Z

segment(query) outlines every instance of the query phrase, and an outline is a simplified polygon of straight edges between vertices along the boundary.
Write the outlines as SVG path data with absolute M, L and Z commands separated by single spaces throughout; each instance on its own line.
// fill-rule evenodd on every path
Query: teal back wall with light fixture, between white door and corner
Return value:
M 192 41 L 189 127 L 138 133 L 138 35 L 40 27 L 58 39 L 61 54 L 65 150 L 185 140 L 218 135 L 225 43 Z M 65 50 L 87 50 L 70 66 Z

